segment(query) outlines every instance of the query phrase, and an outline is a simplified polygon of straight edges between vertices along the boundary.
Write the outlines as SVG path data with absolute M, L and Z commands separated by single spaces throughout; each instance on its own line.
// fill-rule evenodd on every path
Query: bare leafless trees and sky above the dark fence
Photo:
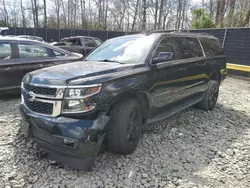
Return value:
M 141 31 L 247 27 L 249 0 L 0 0 L 0 26 Z

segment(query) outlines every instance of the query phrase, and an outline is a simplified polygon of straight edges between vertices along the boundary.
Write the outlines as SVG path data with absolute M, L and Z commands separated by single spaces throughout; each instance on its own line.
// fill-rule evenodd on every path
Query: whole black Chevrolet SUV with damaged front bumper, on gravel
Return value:
M 85 63 L 28 73 L 22 129 L 65 165 L 91 168 L 102 144 L 133 152 L 147 123 L 187 107 L 214 108 L 226 75 L 217 38 L 159 33 L 107 40 Z

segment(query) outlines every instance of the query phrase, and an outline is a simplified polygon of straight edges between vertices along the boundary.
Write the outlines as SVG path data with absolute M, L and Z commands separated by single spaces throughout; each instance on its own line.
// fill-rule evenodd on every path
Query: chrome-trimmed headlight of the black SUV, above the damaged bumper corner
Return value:
M 63 113 L 81 113 L 94 109 L 96 104 L 91 102 L 89 97 L 99 93 L 100 90 L 101 86 L 66 89 Z

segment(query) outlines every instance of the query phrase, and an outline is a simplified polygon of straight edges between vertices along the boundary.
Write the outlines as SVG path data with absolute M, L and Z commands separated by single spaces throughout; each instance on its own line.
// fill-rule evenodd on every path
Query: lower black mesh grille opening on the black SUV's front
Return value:
M 22 92 L 23 95 L 23 102 L 25 105 L 33 112 L 52 115 L 53 112 L 53 104 L 52 103 L 45 103 L 40 101 L 29 101 L 27 94 Z

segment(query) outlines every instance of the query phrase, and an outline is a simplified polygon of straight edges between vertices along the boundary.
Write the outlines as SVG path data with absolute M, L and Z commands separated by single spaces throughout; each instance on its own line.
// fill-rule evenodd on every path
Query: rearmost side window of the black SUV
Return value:
M 206 56 L 214 56 L 221 53 L 222 48 L 218 39 L 200 38 Z

